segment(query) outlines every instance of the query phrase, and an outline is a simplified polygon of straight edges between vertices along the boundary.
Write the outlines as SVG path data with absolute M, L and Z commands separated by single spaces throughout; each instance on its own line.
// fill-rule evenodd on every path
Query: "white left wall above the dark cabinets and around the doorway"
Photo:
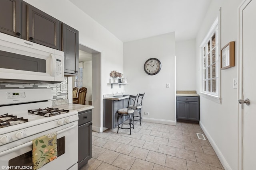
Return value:
M 69 0 L 24 0 L 32 6 L 46 12 L 50 16 L 74 27 L 79 31 L 79 43 L 99 51 L 101 53 L 101 84 L 95 84 L 96 89 L 102 89 L 102 94 L 110 94 L 111 87 L 109 82 L 109 73 L 111 70 L 123 71 L 123 43 L 116 38 L 107 29 L 94 21 L 90 16 L 82 12 Z M 97 9 L 95 9 L 97 10 Z M 72 91 L 71 91 L 72 93 Z M 96 96 L 95 96 L 96 97 Z M 103 95 L 99 98 L 96 107 L 100 107 L 103 102 Z M 95 109 L 97 110 L 97 109 Z M 98 108 L 94 112 L 93 126 L 100 126 L 100 115 L 103 115 L 103 109 Z

